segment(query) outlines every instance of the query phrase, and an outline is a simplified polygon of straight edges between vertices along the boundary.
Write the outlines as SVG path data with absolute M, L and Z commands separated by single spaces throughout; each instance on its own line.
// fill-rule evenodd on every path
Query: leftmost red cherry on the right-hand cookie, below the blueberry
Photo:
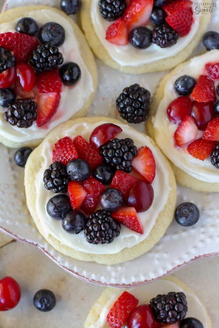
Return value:
M 170 120 L 183 121 L 186 115 L 190 115 L 192 102 L 188 96 L 181 96 L 174 99 L 167 108 L 167 115 Z

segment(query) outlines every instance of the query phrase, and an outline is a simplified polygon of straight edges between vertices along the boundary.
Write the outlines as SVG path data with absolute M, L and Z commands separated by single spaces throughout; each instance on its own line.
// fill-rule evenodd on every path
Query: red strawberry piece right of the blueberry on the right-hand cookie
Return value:
M 191 97 L 198 102 L 214 101 L 214 82 L 207 75 L 200 75 L 191 93 Z

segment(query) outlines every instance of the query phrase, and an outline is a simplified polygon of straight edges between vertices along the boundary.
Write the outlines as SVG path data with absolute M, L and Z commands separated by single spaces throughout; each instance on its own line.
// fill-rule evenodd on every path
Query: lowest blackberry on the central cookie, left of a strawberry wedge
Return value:
M 88 217 L 84 236 L 90 244 L 109 244 L 120 235 L 121 225 L 110 212 L 98 210 Z

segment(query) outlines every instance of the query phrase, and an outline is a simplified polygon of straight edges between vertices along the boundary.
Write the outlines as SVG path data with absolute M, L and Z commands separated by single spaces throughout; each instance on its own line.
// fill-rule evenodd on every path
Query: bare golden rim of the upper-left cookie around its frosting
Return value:
M 16 18 L 19 19 L 21 17 L 27 16 L 28 12 L 30 12 L 30 11 L 46 10 L 46 9 L 53 10 L 56 13 L 59 13 L 60 15 L 65 17 L 65 19 L 68 20 L 69 23 L 72 25 L 72 27 L 74 29 L 74 33 L 77 38 L 77 42 L 79 44 L 81 57 L 86 65 L 88 71 L 90 72 L 90 74 L 92 76 L 94 92 L 92 92 L 90 94 L 89 98 L 84 102 L 83 107 L 79 111 L 77 111 L 71 118 L 86 116 L 91 104 L 93 103 L 95 92 L 97 90 L 98 74 L 97 74 L 97 67 L 96 67 L 93 53 L 90 50 L 90 48 L 84 38 L 84 35 L 81 32 L 81 30 L 79 29 L 79 27 L 77 26 L 77 24 L 68 15 L 66 15 L 63 11 L 52 8 L 52 7 L 48 7 L 48 6 L 26 6 L 26 7 L 18 7 L 18 8 L 10 9 L 10 10 L 0 13 L 0 21 L 1 21 L 1 24 L 7 23 L 12 20 L 15 20 Z M 0 115 L 3 115 L 3 114 L 0 114 Z M 42 142 L 42 140 L 43 140 L 43 138 L 33 139 L 30 141 L 24 141 L 24 142 L 15 142 L 15 141 L 9 140 L 8 138 L 6 138 L 0 134 L 0 142 L 3 143 L 5 146 L 11 147 L 11 148 L 18 148 L 18 147 L 24 147 L 24 146 L 35 147 L 35 146 L 38 146 L 40 144 L 40 142 Z

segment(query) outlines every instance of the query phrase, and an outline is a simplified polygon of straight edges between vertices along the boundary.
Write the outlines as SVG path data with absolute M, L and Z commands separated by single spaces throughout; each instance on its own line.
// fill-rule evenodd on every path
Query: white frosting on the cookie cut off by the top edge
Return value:
M 194 13 L 195 0 L 192 1 Z M 186 36 L 180 37 L 177 40 L 177 43 L 172 47 L 161 48 L 152 43 L 150 47 L 146 49 L 136 49 L 130 44 L 126 46 L 113 45 L 105 39 L 106 30 L 112 22 L 108 22 L 106 19 L 102 18 L 99 11 L 99 0 L 92 0 L 91 2 L 91 19 L 94 30 L 110 57 L 112 57 L 121 66 L 140 66 L 176 55 L 194 38 L 199 28 L 200 18 L 201 14 L 193 14 L 194 22 L 192 23 L 191 30 Z M 151 30 L 153 29 L 152 26 L 147 27 Z

